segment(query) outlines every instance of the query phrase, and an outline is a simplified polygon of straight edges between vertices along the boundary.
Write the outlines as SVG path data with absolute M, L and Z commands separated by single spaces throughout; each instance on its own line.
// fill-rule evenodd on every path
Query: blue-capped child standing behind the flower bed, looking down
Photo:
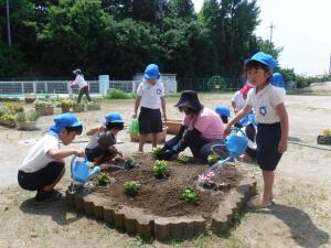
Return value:
M 149 133 L 152 134 L 152 147 L 157 147 L 158 133 L 162 132 L 162 118 L 160 108 L 162 108 L 163 119 L 167 120 L 166 114 L 166 93 L 164 86 L 159 82 L 159 66 L 150 64 L 145 69 L 143 82 L 137 88 L 137 98 L 135 103 L 135 114 L 139 112 L 139 148 L 138 152 L 143 152 L 143 145 Z

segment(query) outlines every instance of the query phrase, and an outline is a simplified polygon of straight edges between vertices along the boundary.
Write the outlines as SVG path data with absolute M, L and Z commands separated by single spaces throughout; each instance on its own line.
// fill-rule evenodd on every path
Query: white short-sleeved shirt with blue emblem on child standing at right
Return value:
M 259 123 L 279 122 L 279 116 L 276 106 L 284 103 L 280 90 L 273 85 L 265 86 L 260 91 L 256 93 L 256 88 L 249 90 L 247 104 L 253 107 L 256 112 L 256 119 Z

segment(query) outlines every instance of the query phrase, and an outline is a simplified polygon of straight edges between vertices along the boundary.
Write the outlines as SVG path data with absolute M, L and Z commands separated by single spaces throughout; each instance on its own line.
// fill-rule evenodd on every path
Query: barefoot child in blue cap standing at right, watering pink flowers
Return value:
M 279 90 L 269 84 L 277 62 L 269 54 L 259 52 L 246 62 L 246 74 L 254 89 L 248 93 L 246 106 L 228 122 L 229 127 L 246 116 L 252 108 L 257 118 L 256 160 L 261 169 L 264 179 L 263 195 L 252 198 L 248 206 L 260 208 L 273 203 L 275 170 L 287 150 L 288 115 L 284 97 Z

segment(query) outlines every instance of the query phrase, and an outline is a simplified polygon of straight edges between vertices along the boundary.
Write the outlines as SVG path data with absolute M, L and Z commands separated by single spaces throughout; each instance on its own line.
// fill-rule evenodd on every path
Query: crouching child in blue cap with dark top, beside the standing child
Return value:
M 88 161 L 96 165 L 113 160 L 121 152 L 117 151 L 117 133 L 124 129 L 124 120 L 117 112 L 107 112 L 105 116 L 105 126 L 93 128 L 86 132 L 89 136 L 89 142 L 86 145 L 85 153 Z

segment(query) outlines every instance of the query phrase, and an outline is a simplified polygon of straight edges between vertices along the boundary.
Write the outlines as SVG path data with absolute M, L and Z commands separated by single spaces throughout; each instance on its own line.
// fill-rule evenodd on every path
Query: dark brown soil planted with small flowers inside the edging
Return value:
M 225 185 L 217 190 L 203 190 L 197 185 L 197 176 L 206 171 L 206 164 L 188 163 L 178 161 L 169 162 L 170 176 L 168 179 L 156 179 L 152 174 L 154 162 L 152 154 L 132 155 L 138 168 L 132 170 L 118 170 L 108 165 L 105 171 L 111 177 L 107 187 L 97 187 L 96 193 L 100 197 L 114 200 L 126 206 L 143 208 L 146 213 L 158 216 L 184 216 L 202 215 L 207 217 L 223 201 L 224 195 L 231 187 L 235 187 L 242 179 L 241 173 L 234 165 L 226 165 L 217 176 L 216 184 Z M 140 184 L 138 195 L 129 197 L 125 193 L 124 183 L 137 181 Z M 195 204 L 186 203 L 182 198 L 182 191 L 190 186 L 199 194 Z M 111 201 L 113 202 L 113 201 Z

